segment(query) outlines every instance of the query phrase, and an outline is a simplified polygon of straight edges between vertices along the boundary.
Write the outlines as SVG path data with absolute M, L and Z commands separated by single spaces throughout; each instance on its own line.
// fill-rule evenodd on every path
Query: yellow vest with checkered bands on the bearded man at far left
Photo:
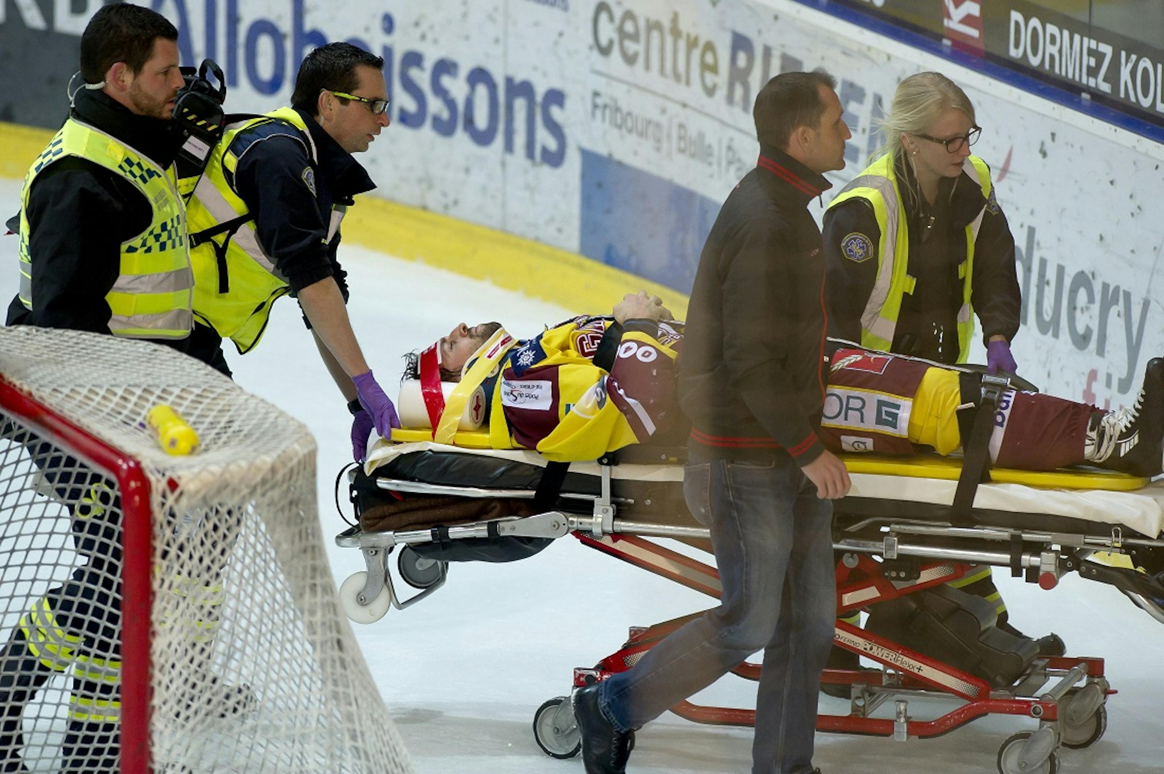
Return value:
M 123 177 L 150 204 L 150 223 L 121 243 L 119 275 L 105 300 L 109 332 L 134 339 L 185 339 L 193 326 L 193 272 L 186 249 L 186 215 L 173 168 L 163 171 L 129 145 L 69 119 L 24 176 L 20 211 L 20 300 L 31 310 L 33 260 L 28 199 L 33 182 L 55 161 L 77 156 Z M 66 227 L 66 226 L 65 226 Z

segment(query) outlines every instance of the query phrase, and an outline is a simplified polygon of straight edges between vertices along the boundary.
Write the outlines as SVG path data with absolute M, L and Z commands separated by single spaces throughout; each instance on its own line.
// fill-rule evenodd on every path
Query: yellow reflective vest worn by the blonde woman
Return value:
M 981 158 L 970 156 L 963 164 L 963 172 L 970 175 L 982 189 L 982 196 L 991 198 L 993 184 L 991 172 Z M 865 199 L 873 207 L 881 240 L 878 243 L 878 272 L 865 310 L 861 312 L 861 345 L 871 349 L 889 352 L 893 347 L 897 317 L 906 293 L 913 293 L 916 279 L 909 274 L 909 228 L 906 222 L 906 205 L 897 187 L 893 155 L 876 159 L 846 185 L 829 204 L 829 208 L 850 199 Z M 974 338 L 974 310 L 971 306 L 971 281 L 974 269 L 974 246 L 986 216 L 986 205 L 973 221 L 966 226 L 966 260 L 958 264 L 963 303 L 956 315 L 958 324 L 958 362 L 970 357 L 970 345 Z

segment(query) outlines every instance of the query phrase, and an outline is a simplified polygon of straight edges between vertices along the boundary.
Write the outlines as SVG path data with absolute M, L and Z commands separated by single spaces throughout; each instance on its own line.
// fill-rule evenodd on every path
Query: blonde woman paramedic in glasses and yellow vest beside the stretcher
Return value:
M 941 364 L 965 363 L 981 324 L 992 374 L 1017 370 L 1010 342 L 1022 299 L 1015 240 L 991 169 L 972 145 L 974 106 L 938 72 L 906 78 L 882 119 L 885 147 L 824 214 L 829 335 Z M 991 602 L 1012 633 L 989 567 L 956 581 Z M 1038 639 L 1060 655 L 1056 634 Z M 856 658 L 839 648 L 829 666 Z M 847 694 L 845 694 L 847 696 Z

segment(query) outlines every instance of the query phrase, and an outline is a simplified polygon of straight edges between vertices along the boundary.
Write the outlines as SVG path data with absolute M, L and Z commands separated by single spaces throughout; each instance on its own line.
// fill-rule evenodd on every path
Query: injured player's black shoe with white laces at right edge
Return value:
M 1158 476 L 1164 464 L 1164 358 L 1154 357 L 1135 405 L 1092 416 L 1084 459 L 1133 476 Z

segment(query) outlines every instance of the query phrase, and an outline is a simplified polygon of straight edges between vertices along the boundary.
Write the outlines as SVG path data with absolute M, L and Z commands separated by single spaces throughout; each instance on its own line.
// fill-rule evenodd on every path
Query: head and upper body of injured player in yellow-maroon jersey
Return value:
M 454 422 L 462 414 L 453 398 L 446 410 L 439 382 L 471 382 L 481 388 L 475 400 L 488 396 L 477 419 L 489 426 L 495 448 L 537 449 L 551 461 L 595 460 L 675 431 L 682 434 L 674 442 L 683 442 L 674 396 L 682 332 L 658 297 L 640 292 L 610 317 L 577 317 L 527 341 L 514 341 L 497 322 L 461 324 L 409 355 L 405 378 L 419 379 L 433 428 L 442 416 L 447 426 L 449 414 Z M 497 406 L 502 432 L 491 421 Z

